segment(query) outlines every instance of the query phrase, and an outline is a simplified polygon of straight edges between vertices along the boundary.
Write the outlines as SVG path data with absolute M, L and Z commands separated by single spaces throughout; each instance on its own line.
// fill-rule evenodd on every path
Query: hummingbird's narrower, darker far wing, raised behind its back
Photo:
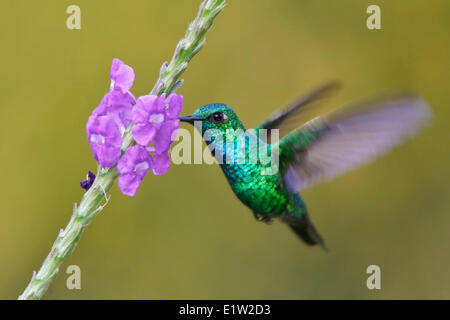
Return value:
M 279 129 L 279 136 L 282 137 L 297 128 L 300 123 L 305 122 L 305 117 L 308 114 L 307 111 L 310 111 L 310 109 L 315 105 L 315 102 L 329 96 L 330 93 L 338 87 L 339 84 L 337 82 L 330 82 L 314 90 L 307 96 L 296 100 L 287 108 L 275 111 L 269 119 L 255 128 L 256 134 L 258 134 L 259 130 L 266 129 L 268 131 L 267 142 L 270 143 L 270 130 Z

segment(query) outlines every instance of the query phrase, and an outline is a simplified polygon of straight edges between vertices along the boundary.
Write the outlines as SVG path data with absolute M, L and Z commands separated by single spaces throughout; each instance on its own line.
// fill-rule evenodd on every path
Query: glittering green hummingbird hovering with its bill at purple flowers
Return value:
M 180 117 L 180 121 L 195 124 L 212 155 L 221 160 L 217 162 L 231 189 L 258 221 L 281 220 L 307 245 L 324 249 L 324 240 L 299 192 L 387 153 L 416 134 L 431 115 L 421 97 L 397 94 L 350 103 L 305 121 L 314 102 L 336 88 L 336 83 L 327 84 L 252 130 L 246 130 L 237 113 L 223 103 L 208 104 L 191 116 Z M 266 134 L 276 132 L 278 139 L 276 134 L 260 134 L 263 129 Z M 228 132 L 237 132 L 234 138 L 254 138 L 258 147 L 248 142 L 251 139 L 239 146 L 235 139 L 233 148 L 225 147 L 225 140 L 232 141 L 228 136 L 223 138 Z M 258 160 L 264 148 L 278 157 L 275 166 Z M 251 158 L 252 154 L 257 154 L 257 161 L 233 161 Z M 276 170 L 264 172 L 269 166 Z

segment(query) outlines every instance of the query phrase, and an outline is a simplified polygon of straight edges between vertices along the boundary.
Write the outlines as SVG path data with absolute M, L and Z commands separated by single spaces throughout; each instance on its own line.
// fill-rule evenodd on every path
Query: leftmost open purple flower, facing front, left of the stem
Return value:
M 122 135 L 113 117 L 93 114 L 86 124 L 94 158 L 104 168 L 114 166 L 120 158 Z

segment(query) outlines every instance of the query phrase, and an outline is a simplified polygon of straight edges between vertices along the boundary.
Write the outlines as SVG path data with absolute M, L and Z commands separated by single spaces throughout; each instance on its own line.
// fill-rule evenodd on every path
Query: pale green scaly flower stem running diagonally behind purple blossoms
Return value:
M 170 94 L 182 84 L 178 79 L 186 70 L 189 61 L 200 51 L 205 43 L 206 32 L 211 28 L 215 17 L 225 7 L 225 0 L 204 0 L 198 14 L 189 25 L 186 35 L 178 42 L 169 64 L 164 63 L 152 94 Z M 134 144 L 131 126 L 124 132 L 122 151 Z M 83 195 L 80 205 L 74 205 L 72 217 L 65 229 L 61 229 L 50 253 L 36 273 L 33 272 L 30 283 L 19 296 L 19 300 L 38 300 L 47 291 L 56 278 L 61 264 L 75 249 L 86 226 L 107 204 L 107 192 L 114 185 L 118 172 L 116 167 L 98 167 L 97 176 L 91 188 Z

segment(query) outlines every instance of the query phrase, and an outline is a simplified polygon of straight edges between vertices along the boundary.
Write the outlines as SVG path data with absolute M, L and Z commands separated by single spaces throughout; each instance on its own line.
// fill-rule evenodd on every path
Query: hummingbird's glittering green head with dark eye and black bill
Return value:
M 202 135 L 207 130 L 218 130 L 225 134 L 227 130 L 244 130 L 241 120 L 229 106 L 223 103 L 213 103 L 198 108 L 192 116 L 180 117 L 180 121 L 194 124 L 201 122 Z M 200 130 L 200 128 L 198 128 Z

